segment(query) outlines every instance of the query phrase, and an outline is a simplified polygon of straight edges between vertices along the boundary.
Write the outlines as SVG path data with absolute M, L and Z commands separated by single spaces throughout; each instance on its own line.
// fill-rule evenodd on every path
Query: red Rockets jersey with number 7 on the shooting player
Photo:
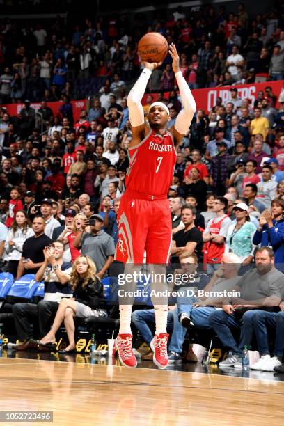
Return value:
M 167 196 L 177 157 L 171 133 L 161 136 L 151 129 L 143 141 L 128 148 L 128 152 L 126 188 L 141 194 Z

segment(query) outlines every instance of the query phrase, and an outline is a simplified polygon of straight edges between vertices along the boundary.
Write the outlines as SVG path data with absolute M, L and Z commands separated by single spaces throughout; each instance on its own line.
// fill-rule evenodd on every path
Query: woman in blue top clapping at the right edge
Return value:
M 271 203 L 271 213 L 260 215 L 260 226 L 253 237 L 253 244 L 271 246 L 275 263 L 284 263 L 284 200 L 276 198 Z

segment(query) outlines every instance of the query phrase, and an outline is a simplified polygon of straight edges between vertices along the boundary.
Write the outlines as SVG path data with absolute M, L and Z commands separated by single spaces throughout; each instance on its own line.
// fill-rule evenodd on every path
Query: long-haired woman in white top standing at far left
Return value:
M 15 219 L 8 230 L 5 242 L 4 261 L 8 262 L 7 272 L 17 275 L 19 259 L 22 257 L 23 244 L 34 234 L 30 227 L 29 216 L 24 210 L 18 210 Z

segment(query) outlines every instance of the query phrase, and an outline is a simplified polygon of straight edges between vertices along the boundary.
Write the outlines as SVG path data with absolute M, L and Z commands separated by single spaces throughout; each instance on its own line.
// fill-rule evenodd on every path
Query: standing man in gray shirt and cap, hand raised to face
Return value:
M 97 277 L 102 280 L 107 276 L 107 270 L 114 260 L 115 246 L 113 238 L 102 230 L 104 219 L 100 214 L 92 214 L 89 221 L 82 224 L 74 238 L 74 248 L 81 248 L 82 255 L 88 255 L 95 262 Z M 90 225 L 90 232 L 84 232 Z

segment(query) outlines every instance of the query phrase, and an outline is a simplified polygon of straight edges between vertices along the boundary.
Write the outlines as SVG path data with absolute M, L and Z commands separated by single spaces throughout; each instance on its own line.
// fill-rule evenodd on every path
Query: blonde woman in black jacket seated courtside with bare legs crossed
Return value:
M 40 345 L 52 345 L 56 340 L 56 332 L 64 322 L 69 345 L 61 353 L 74 352 L 74 317 L 106 317 L 107 312 L 100 309 L 100 299 L 103 297 L 103 288 L 96 276 L 96 267 L 88 256 L 79 256 L 74 261 L 70 284 L 73 297 L 61 299 L 54 323 L 50 331 L 40 340 Z

